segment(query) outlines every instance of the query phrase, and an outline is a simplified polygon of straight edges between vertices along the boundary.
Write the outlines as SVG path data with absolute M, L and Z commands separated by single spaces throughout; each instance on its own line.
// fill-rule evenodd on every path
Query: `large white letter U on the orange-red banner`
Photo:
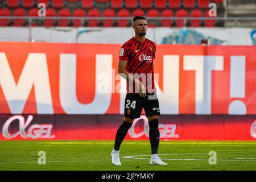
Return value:
M 102 75 L 108 77 L 108 92 L 100 92 Z M 60 102 L 67 114 L 105 114 L 112 96 L 112 55 L 96 55 L 96 93 L 90 104 L 76 96 L 76 55 L 60 54 Z M 85 86 L 86 88 L 86 86 Z

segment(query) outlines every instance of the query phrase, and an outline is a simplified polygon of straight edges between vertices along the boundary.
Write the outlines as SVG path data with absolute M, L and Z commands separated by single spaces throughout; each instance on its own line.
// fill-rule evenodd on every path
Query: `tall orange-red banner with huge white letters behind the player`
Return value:
M 115 44 L 0 43 L 0 114 L 122 114 Z M 162 114 L 256 114 L 255 46 L 156 47 Z

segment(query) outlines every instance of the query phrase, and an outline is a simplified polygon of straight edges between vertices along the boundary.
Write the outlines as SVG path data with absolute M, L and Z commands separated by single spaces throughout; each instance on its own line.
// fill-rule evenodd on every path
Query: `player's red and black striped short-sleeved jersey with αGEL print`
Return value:
M 139 78 L 148 93 L 155 90 L 153 67 L 155 51 L 155 43 L 151 40 L 145 39 L 143 42 L 139 42 L 133 37 L 123 44 L 119 52 L 119 59 L 127 61 L 126 71 Z M 134 85 L 131 82 L 129 83 L 128 80 L 127 93 L 134 93 Z

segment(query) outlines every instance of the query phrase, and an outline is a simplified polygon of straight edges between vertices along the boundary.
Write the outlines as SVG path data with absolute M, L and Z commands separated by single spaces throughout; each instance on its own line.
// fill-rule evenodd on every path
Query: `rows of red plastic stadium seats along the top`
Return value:
M 229 0 L 227 0 L 229 1 Z M 234 0 L 236 1 L 236 0 Z M 245 0 L 250 1 L 250 0 Z M 251 0 L 253 1 L 253 0 Z M 222 0 L 6 0 L 0 4 L 0 12 L 2 16 L 14 15 L 25 12 L 27 16 L 37 16 L 36 9 L 38 3 L 45 3 L 47 7 L 47 16 L 76 16 L 76 17 L 129 17 L 129 16 L 151 16 L 151 17 L 185 17 L 185 16 L 202 16 L 208 10 L 210 2 L 218 5 L 218 11 L 223 10 Z M 2 6 L 1 6 L 2 5 Z M 220 8 L 222 7 L 222 9 Z M 38 9 L 39 10 L 39 9 Z M 9 14 L 10 12 L 10 14 Z M 86 14 L 86 13 L 87 14 Z M 19 21 L 18 21 L 19 22 Z M 102 27 L 126 27 L 129 26 L 131 20 L 43 20 L 30 19 L 26 21 L 3 20 L 1 26 L 102 26 Z M 64 23 L 65 22 L 65 23 Z M 195 23 L 197 22 L 197 23 Z M 199 25 L 200 24 L 200 25 Z M 187 26 L 183 20 L 150 20 L 149 26 Z M 215 20 L 204 20 L 201 23 L 191 20 L 191 26 L 219 26 Z

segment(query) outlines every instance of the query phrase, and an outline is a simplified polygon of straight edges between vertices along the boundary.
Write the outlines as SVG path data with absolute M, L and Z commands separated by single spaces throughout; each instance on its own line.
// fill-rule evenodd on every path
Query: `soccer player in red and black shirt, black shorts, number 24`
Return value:
M 135 16 L 133 29 L 135 36 L 123 44 L 119 52 L 118 73 L 127 80 L 127 94 L 123 123 L 117 130 L 114 148 L 110 157 L 115 166 L 121 166 L 119 148 L 134 119 L 141 116 L 144 108 L 150 127 L 150 164 L 167 165 L 158 156 L 160 137 L 158 115 L 160 115 L 160 109 L 154 85 L 153 68 L 156 46 L 154 42 L 145 38 L 147 31 L 146 18 Z

